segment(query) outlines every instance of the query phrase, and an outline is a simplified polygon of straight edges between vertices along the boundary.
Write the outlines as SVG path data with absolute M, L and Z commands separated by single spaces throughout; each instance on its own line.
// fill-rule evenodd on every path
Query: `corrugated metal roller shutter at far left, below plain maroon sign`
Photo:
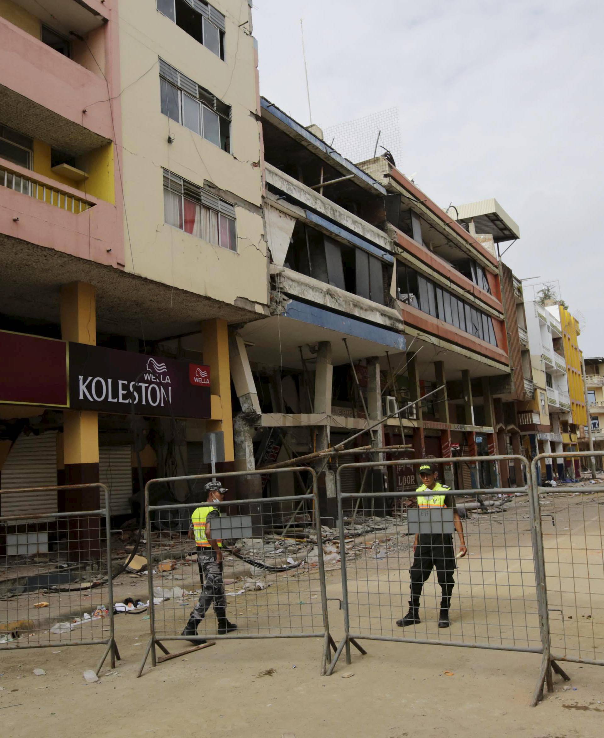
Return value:
M 57 483 L 57 433 L 20 435 L 2 468 L 3 489 L 48 487 Z M 57 511 L 57 492 L 2 494 L 2 515 L 53 513 Z

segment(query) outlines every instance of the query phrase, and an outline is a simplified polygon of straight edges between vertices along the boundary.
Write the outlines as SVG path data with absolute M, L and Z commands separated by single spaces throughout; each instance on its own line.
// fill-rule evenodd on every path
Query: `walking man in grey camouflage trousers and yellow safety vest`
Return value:
M 193 644 L 203 644 L 204 640 L 197 635 L 199 623 L 203 620 L 205 613 L 214 604 L 214 613 L 218 621 L 219 635 L 237 630 L 234 623 L 227 620 L 227 598 L 224 594 L 224 581 L 222 579 L 222 541 L 212 537 L 211 520 L 220 517 L 219 508 L 212 505 L 213 502 L 222 502 L 227 490 L 220 482 L 208 482 L 204 491 L 207 494 L 207 504 L 198 507 L 191 515 L 191 525 L 195 545 L 197 548 L 197 561 L 203 575 L 202 593 L 199 602 L 193 607 L 185 630 L 180 635 L 190 635 Z

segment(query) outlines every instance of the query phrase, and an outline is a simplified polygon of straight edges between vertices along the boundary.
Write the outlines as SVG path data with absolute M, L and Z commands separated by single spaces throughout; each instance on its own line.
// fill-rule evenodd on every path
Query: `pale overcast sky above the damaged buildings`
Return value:
M 397 106 L 399 169 L 441 205 L 495 197 L 504 261 L 560 280 L 603 356 L 604 2 L 254 0 L 261 94 L 308 125 L 301 16 L 313 123 Z

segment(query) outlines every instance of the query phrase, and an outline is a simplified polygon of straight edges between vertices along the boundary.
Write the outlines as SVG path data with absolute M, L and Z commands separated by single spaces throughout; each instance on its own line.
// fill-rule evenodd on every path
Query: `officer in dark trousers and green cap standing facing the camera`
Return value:
M 422 484 L 416 492 L 427 492 L 417 497 L 419 508 L 455 508 L 455 500 L 450 492 L 450 487 L 436 481 L 436 465 L 425 463 L 419 467 L 419 477 Z M 467 554 L 467 546 L 464 541 L 464 528 L 461 525 L 457 510 L 453 512 L 453 524 L 459 535 L 459 554 Z M 422 533 L 416 534 L 413 542 L 413 564 L 409 573 L 411 574 L 411 600 L 409 601 L 409 612 L 397 625 L 405 627 L 421 622 L 419 620 L 419 597 L 422 594 L 424 582 L 436 568 L 436 577 L 442 591 L 440 601 L 439 628 L 448 628 L 449 608 L 451 594 L 455 586 L 453 573 L 456 569 L 456 557 L 453 550 L 453 536 L 450 533 Z

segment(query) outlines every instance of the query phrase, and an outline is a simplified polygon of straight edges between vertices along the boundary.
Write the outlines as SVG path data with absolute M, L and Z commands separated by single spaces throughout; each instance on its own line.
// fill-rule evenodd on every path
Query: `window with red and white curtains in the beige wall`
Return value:
M 163 172 L 164 221 L 209 244 L 236 252 L 233 205 L 167 169 Z

